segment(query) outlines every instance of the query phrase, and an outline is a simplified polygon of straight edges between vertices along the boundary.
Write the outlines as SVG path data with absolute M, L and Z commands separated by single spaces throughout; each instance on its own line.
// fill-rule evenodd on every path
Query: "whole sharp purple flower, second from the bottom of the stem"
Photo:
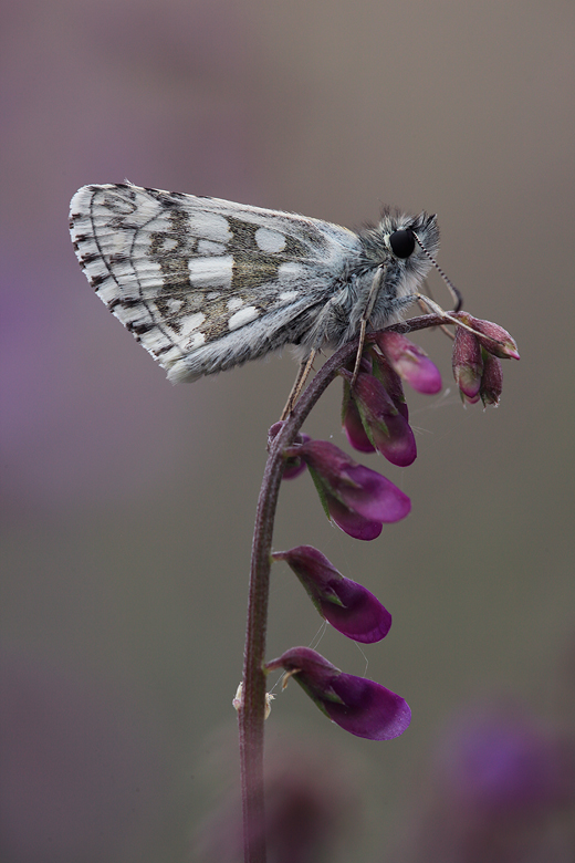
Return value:
M 389 632 L 391 615 L 362 584 L 344 579 L 312 545 L 275 551 L 295 572 L 320 614 L 348 638 L 363 644 L 379 642 Z

